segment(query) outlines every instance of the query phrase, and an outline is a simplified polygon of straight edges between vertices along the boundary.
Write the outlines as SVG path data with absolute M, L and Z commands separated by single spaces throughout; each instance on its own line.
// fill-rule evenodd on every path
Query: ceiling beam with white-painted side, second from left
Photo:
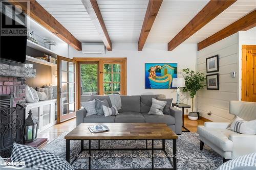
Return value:
M 102 15 L 99 10 L 99 6 L 96 0 L 81 0 L 83 6 L 86 8 L 86 11 L 90 15 L 95 28 L 97 29 L 99 35 L 102 38 L 103 43 L 106 46 L 108 51 L 112 51 L 112 42 L 110 40 L 110 36 L 108 30 L 106 30 L 106 26 Z

